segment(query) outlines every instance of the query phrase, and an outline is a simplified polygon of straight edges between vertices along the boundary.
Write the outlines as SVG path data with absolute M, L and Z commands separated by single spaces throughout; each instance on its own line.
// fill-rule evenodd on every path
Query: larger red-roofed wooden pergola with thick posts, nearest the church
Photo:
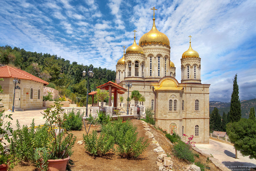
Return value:
M 111 106 L 111 96 L 112 93 L 114 94 L 114 104 L 113 107 L 117 107 L 118 104 L 118 93 L 119 94 L 124 94 L 125 92 L 123 91 L 127 91 L 127 89 L 125 89 L 124 87 L 119 86 L 118 84 L 109 81 L 105 84 L 102 84 L 100 86 L 97 87 L 98 89 L 104 89 L 104 90 L 109 90 L 109 106 Z

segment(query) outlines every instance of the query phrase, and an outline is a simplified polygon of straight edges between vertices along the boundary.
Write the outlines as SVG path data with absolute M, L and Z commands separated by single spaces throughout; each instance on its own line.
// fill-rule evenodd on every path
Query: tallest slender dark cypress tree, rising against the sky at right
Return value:
M 237 74 L 234 77 L 233 82 L 233 93 L 231 95 L 231 103 L 230 103 L 230 121 L 238 122 L 241 119 L 241 104 L 239 99 L 239 90 L 237 84 Z

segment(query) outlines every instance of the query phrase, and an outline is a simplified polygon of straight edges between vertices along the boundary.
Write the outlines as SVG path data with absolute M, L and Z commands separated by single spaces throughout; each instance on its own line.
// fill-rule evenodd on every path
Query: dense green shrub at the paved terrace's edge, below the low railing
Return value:
M 63 127 L 66 128 L 67 131 L 69 130 L 81 130 L 83 126 L 83 113 L 78 110 L 75 114 L 74 110 L 69 114 L 64 113 Z

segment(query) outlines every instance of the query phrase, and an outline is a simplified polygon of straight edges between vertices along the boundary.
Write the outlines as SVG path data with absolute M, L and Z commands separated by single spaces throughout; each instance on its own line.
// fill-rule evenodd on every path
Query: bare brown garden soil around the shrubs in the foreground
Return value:
M 71 156 L 71 159 L 74 161 L 72 170 L 158 170 L 156 165 L 156 159 L 159 154 L 153 151 L 155 147 L 151 144 L 152 139 L 148 138 L 145 135 L 145 131 L 142 127 L 141 121 L 137 119 L 132 119 L 131 122 L 136 125 L 138 137 L 144 137 L 148 139 L 150 145 L 147 147 L 146 151 L 138 159 L 126 159 L 119 156 L 115 156 L 113 152 L 109 152 L 106 156 L 93 157 L 86 152 L 84 144 L 79 145 L 75 143 L 73 150 L 74 154 Z M 88 128 L 88 126 L 87 126 Z M 186 165 L 191 163 L 186 162 L 182 159 L 179 159 L 172 155 L 171 147 L 172 143 L 164 136 L 164 134 L 156 130 L 153 126 L 150 126 L 152 129 L 155 139 L 159 142 L 160 146 L 164 151 L 170 154 L 173 161 L 173 170 L 184 170 L 183 168 Z M 100 126 L 91 126 L 90 133 L 93 130 L 99 132 Z M 86 134 L 85 129 L 81 131 L 71 131 L 77 137 L 77 141 L 83 140 L 83 134 Z M 194 151 L 199 154 L 198 152 Z M 201 163 L 206 163 L 206 157 L 199 154 L 199 158 L 195 157 L 195 162 L 200 161 Z M 209 163 L 211 170 L 219 170 L 213 163 Z M 38 170 L 33 163 L 21 162 L 14 167 L 13 170 Z M 207 169 L 206 169 L 207 170 Z

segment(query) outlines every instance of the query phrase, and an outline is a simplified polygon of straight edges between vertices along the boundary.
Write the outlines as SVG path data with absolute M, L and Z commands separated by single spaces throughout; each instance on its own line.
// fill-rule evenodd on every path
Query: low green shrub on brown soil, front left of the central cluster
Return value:
M 105 155 L 114 147 L 114 138 L 100 134 L 97 138 L 97 131 L 93 130 L 91 134 L 83 134 L 86 151 L 93 156 Z

